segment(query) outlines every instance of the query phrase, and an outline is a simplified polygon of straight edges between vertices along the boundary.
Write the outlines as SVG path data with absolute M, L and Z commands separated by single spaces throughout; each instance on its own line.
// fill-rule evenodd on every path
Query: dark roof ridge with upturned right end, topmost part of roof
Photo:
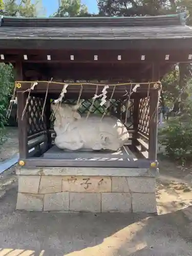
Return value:
M 12 17 L 0 16 L 0 26 L 6 27 L 74 27 L 80 26 L 145 26 L 151 23 L 151 26 L 172 26 L 186 25 L 188 11 L 178 14 L 158 15 L 158 16 L 129 16 L 129 17 Z M 89 23 L 88 23 L 89 20 Z M 104 24 L 105 23 L 105 24 Z

